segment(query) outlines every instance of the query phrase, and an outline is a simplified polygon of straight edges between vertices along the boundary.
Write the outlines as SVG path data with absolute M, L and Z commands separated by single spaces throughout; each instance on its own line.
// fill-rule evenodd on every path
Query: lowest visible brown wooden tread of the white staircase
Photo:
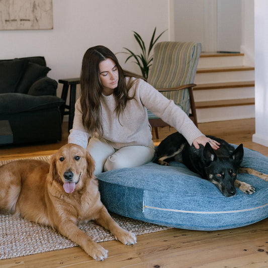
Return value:
M 205 102 L 195 102 L 195 104 L 196 109 L 230 107 L 230 106 L 254 105 L 255 99 L 247 98 L 247 99 L 205 101 Z

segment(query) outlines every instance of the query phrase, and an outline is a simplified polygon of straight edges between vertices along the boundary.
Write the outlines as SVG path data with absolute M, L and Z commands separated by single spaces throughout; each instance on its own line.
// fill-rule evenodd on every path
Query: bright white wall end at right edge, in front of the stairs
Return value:
M 255 0 L 255 134 L 268 146 L 268 1 Z

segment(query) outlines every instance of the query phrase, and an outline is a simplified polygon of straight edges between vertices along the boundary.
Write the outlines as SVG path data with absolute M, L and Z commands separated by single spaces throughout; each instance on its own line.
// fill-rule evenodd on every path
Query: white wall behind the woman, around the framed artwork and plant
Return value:
M 114 53 L 123 47 L 139 52 L 132 31 L 148 45 L 155 26 L 156 34 L 169 28 L 169 12 L 169 0 L 53 0 L 54 29 L 0 31 L 0 59 L 42 55 L 51 78 L 78 77 L 87 48 L 105 45 Z M 169 38 L 167 31 L 160 41 Z M 117 56 L 122 67 L 139 71 L 130 61 L 124 64 L 126 55 Z

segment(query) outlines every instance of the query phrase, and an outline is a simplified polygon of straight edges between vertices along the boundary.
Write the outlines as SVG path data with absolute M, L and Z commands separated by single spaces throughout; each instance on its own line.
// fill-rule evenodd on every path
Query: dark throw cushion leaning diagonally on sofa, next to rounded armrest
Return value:
M 16 88 L 16 93 L 27 94 L 30 86 L 39 78 L 44 77 L 51 69 L 36 63 L 28 62 L 26 70 Z M 45 94 L 47 95 L 47 94 Z

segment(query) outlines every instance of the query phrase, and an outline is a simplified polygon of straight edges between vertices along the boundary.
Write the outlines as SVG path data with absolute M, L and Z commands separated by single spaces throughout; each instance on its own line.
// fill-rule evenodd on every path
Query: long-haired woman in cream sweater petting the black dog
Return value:
M 123 70 L 113 52 L 104 46 L 85 52 L 80 86 L 68 142 L 87 148 L 96 163 L 95 174 L 152 160 L 154 145 L 147 109 L 197 149 L 207 142 L 219 148 L 219 143 L 203 135 L 173 101 L 142 77 Z

